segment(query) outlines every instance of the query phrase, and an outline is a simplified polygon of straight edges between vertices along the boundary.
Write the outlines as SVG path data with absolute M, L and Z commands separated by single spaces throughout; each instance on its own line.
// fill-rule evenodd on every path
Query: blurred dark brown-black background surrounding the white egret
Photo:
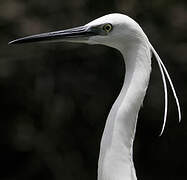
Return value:
M 182 107 L 179 124 L 169 91 L 168 121 L 159 137 L 164 94 L 153 59 L 134 145 L 137 177 L 187 179 L 186 0 L 1 0 L 1 180 L 96 180 L 105 120 L 125 74 L 120 53 L 83 44 L 7 43 L 111 12 L 127 14 L 142 26 L 171 74 Z

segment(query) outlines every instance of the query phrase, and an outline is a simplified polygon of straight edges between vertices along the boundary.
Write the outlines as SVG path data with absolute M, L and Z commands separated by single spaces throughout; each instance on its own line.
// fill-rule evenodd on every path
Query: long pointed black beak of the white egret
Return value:
M 76 28 L 54 31 L 42 34 L 36 34 L 10 41 L 8 44 L 21 44 L 32 42 L 56 42 L 56 41 L 69 41 L 69 42 L 85 42 L 90 36 L 97 35 L 97 32 L 87 26 L 80 26 Z

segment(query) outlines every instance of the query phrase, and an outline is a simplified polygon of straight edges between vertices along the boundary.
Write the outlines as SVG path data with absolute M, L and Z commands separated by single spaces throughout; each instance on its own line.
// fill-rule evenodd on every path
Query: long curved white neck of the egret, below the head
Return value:
M 151 72 L 151 52 L 146 41 L 121 49 L 126 74 L 101 140 L 98 180 L 136 180 L 133 141 L 139 109 Z

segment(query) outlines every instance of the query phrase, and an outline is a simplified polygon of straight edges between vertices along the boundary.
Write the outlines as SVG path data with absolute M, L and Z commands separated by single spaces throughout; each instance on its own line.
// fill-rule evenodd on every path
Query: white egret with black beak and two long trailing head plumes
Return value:
M 167 118 L 166 78 L 176 100 L 179 121 L 181 120 L 180 105 L 171 78 L 142 28 L 130 17 L 114 13 L 93 20 L 84 26 L 27 36 L 11 41 L 9 44 L 41 41 L 102 44 L 121 52 L 126 65 L 126 75 L 102 135 L 98 180 L 136 180 L 132 158 L 133 141 L 138 112 L 149 83 L 152 53 L 158 62 L 165 94 L 164 122 L 160 135 L 164 131 Z

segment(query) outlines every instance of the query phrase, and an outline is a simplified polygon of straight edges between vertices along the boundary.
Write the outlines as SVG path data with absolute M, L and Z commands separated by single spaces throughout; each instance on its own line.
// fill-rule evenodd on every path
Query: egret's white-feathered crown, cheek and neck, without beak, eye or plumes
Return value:
M 98 41 L 100 44 L 104 42 L 105 45 L 119 50 L 124 58 L 126 74 L 121 92 L 108 115 L 102 136 L 98 180 L 136 180 L 132 156 L 133 141 L 138 112 L 151 72 L 151 49 L 143 30 L 128 16 L 106 15 L 88 25 L 94 26 L 101 22 L 117 26 L 118 32 L 110 35 L 112 38 L 110 41 L 98 40 L 97 37 L 93 37 L 90 41 L 96 44 Z

